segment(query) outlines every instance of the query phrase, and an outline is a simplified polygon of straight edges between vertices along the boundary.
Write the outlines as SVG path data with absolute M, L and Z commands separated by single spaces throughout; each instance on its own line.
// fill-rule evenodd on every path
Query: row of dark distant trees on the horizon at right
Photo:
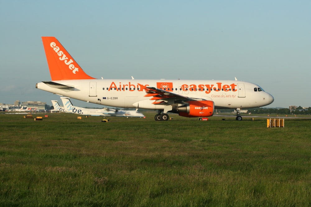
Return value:
M 233 109 L 217 109 L 218 112 L 221 113 L 231 113 L 234 110 Z M 307 109 L 303 109 L 301 106 L 297 107 L 296 110 L 290 110 L 286 108 L 252 108 L 248 109 L 248 113 L 252 114 L 305 114 L 305 115 L 311 115 L 311 107 Z

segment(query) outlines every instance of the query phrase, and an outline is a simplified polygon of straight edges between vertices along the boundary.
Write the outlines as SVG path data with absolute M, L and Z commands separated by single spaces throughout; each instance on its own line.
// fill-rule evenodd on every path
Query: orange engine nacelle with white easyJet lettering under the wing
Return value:
M 178 107 L 179 116 L 207 117 L 214 114 L 213 101 L 189 101 L 187 106 Z

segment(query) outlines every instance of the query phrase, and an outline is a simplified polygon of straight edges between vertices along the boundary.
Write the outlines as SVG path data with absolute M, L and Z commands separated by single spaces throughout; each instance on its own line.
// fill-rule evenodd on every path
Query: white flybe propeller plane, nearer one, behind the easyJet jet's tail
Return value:
M 137 110 L 116 110 L 109 108 L 102 109 L 88 109 L 78 106 L 73 106 L 68 97 L 61 97 L 63 106 L 67 112 L 87 115 L 87 116 L 120 116 L 120 117 L 145 117 L 142 113 L 137 112 Z

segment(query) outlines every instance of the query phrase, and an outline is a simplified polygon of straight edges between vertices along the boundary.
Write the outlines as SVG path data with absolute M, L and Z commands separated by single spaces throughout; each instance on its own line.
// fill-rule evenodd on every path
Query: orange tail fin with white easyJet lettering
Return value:
M 52 80 L 94 79 L 87 75 L 55 37 L 42 37 Z

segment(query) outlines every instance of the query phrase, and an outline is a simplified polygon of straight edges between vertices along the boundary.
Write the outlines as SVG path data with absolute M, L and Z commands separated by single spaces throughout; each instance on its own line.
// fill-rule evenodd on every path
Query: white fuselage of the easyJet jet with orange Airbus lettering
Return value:
M 146 87 L 198 100 L 214 101 L 216 109 L 261 107 L 274 100 L 272 95 L 258 85 L 244 81 L 83 79 L 53 82 L 72 88 L 57 88 L 44 82 L 37 83 L 36 88 L 81 101 L 122 108 L 163 109 L 164 105 L 153 104 L 150 97 L 144 97 Z

